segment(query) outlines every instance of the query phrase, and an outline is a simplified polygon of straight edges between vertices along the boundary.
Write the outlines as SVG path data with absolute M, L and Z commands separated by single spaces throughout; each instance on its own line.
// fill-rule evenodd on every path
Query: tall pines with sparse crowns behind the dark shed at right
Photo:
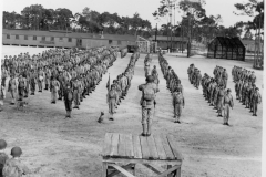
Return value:
M 252 30 L 256 30 L 256 34 L 264 28 L 264 1 L 248 0 L 246 3 L 236 3 L 236 15 L 253 17 L 253 21 L 239 21 L 232 27 L 224 27 L 219 23 L 223 21 L 222 17 L 207 15 L 204 9 L 205 1 L 200 3 L 190 1 L 180 1 L 177 4 L 171 0 L 161 0 L 161 4 L 153 13 L 155 19 L 165 19 L 173 15 L 173 9 L 180 9 L 185 14 L 182 17 L 181 22 L 172 25 L 170 22 L 165 23 L 158 30 L 158 34 L 170 35 L 171 31 L 174 37 L 188 37 L 191 33 L 192 39 L 201 42 L 209 42 L 215 37 L 241 37 L 244 32 L 244 39 L 253 39 Z M 170 20 L 168 20 L 170 21 Z M 188 30 L 188 28 L 191 30 Z M 260 34 L 263 34 L 260 32 Z

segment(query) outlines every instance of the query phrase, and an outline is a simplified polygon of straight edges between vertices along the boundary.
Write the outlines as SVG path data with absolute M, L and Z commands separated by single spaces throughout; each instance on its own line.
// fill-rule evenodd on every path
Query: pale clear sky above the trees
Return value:
M 155 20 L 152 13 L 160 7 L 161 0 L 4 0 L 2 1 L 2 11 L 16 11 L 20 13 L 23 8 L 31 4 L 42 4 L 47 9 L 66 8 L 72 11 L 73 14 L 82 12 L 82 9 L 89 7 L 91 10 L 95 10 L 100 13 L 108 11 L 110 13 L 117 13 L 123 17 L 133 17 L 137 12 L 142 19 L 149 20 L 154 28 L 157 23 L 161 27 L 167 22 L 167 18 Z M 181 0 L 177 0 L 177 2 Z M 235 11 L 235 3 L 247 2 L 247 0 L 205 0 L 207 15 L 221 14 L 223 22 L 222 25 L 234 25 L 238 21 L 252 20 L 248 17 L 237 17 L 233 13 Z M 178 22 L 182 12 L 175 13 L 175 21 Z M 174 22 L 173 22 L 174 23 Z

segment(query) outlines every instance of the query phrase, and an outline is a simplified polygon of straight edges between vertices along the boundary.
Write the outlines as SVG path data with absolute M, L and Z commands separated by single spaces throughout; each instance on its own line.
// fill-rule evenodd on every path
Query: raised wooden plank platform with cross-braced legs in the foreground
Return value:
M 181 176 L 183 157 L 177 150 L 177 143 L 172 135 L 151 135 L 143 137 L 132 134 L 105 134 L 103 147 L 103 177 L 111 177 L 119 173 L 134 177 L 135 164 L 142 164 L 157 177 Z M 123 166 L 120 166 L 122 164 Z M 158 166 L 167 165 L 166 170 Z M 155 167 L 156 166 L 156 167 Z M 109 167 L 115 169 L 111 174 Z M 133 174 L 129 173 L 133 169 Z

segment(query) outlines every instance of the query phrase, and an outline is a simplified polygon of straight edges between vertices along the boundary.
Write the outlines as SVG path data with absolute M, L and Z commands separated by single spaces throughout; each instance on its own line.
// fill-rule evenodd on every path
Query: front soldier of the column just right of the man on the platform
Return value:
M 184 108 L 185 106 L 185 100 L 180 88 L 175 88 L 175 92 L 173 93 L 173 106 L 175 123 L 180 124 L 182 107 Z

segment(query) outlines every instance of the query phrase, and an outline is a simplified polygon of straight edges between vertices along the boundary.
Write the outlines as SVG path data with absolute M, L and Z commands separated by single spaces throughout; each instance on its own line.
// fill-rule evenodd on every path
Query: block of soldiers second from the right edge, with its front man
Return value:
M 233 110 L 234 101 L 233 96 L 231 95 L 231 88 L 225 87 L 225 81 L 221 81 L 221 75 L 224 70 L 216 66 L 215 76 L 211 77 L 207 73 L 204 73 L 202 79 L 202 87 L 203 87 L 203 95 L 205 100 L 208 101 L 209 106 L 214 106 L 214 110 L 217 110 L 218 116 L 223 117 L 222 112 L 224 111 L 224 124 L 229 125 L 229 108 Z

